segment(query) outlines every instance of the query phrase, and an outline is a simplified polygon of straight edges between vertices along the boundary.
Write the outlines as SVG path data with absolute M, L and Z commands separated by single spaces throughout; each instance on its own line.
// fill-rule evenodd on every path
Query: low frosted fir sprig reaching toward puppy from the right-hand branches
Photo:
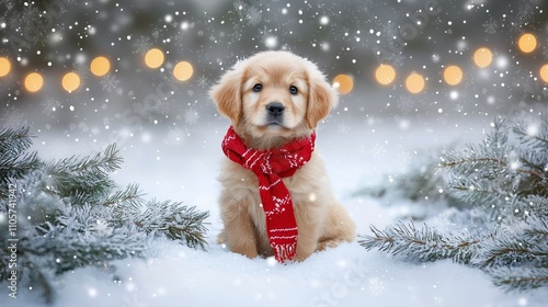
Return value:
M 435 229 L 423 226 L 416 229 L 411 221 L 409 225 L 398 223 L 380 231 L 370 227 L 373 236 L 362 236 L 358 243 L 372 250 L 389 252 L 392 255 L 403 255 L 418 261 L 436 261 L 453 259 L 459 263 L 470 263 L 473 251 L 480 242 L 478 239 L 458 236 L 444 237 Z

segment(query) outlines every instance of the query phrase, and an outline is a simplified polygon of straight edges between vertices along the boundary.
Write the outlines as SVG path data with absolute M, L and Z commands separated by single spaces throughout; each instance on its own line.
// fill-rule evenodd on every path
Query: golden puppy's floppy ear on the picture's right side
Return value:
M 328 83 L 326 77 L 316 65 L 309 62 L 308 67 L 308 106 L 307 123 L 313 129 L 318 122 L 328 116 L 329 111 L 339 102 L 338 92 Z

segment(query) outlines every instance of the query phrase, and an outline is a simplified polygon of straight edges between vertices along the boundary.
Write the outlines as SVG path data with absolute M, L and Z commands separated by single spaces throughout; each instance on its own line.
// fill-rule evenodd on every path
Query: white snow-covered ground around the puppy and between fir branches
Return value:
M 378 200 L 353 197 L 353 191 L 387 180 L 420 160 L 420 155 L 453 140 L 480 140 L 489 128 L 489 120 L 408 126 L 341 117 L 321 126 L 317 150 L 358 234 L 368 234 L 372 224 L 384 228 L 410 207 L 402 200 L 401 206 L 387 208 Z M 546 288 L 506 294 L 479 270 L 450 261 L 409 263 L 366 251 L 357 242 L 288 265 L 228 252 L 215 245 L 221 228 L 215 178 L 224 159 L 219 144 L 226 125 L 215 120 L 194 128 L 182 141 L 161 129 L 118 139 L 125 162 L 114 179 L 121 185 L 139 183 L 149 197 L 209 211 L 207 251 L 159 240 L 152 245 L 156 257 L 148 261 L 121 260 L 102 270 L 76 270 L 59 278 L 55 306 L 546 306 Z M 73 136 L 62 134 L 37 135 L 34 147 L 45 159 L 87 155 L 104 145 L 76 143 Z M 23 291 L 18 299 L 2 299 L 1 305 L 43 303 Z

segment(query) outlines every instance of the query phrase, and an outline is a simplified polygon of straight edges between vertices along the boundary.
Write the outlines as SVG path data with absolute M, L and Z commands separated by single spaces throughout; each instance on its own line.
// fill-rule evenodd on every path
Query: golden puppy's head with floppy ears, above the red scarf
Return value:
M 288 52 L 238 62 L 210 96 L 237 132 L 254 139 L 306 136 L 338 102 L 316 65 Z

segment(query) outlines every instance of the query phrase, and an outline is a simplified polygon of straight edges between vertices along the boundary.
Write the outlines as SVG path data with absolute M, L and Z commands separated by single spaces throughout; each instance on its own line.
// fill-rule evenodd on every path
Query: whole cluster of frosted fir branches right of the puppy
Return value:
M 506 291 L 548 286 L 548 117 L 543 114 L 499 118 L 482 143 L 439 158 L 444 193 L 465 204 L 463 216 L 481 212 L 487 223 L 459 225 L 458 234 L 427 225 L 418 229 L 412 221 L 383 231 L 372 226 L 373 235 L 359 243 L 412 261 L 452 259 L 480 268 Z

